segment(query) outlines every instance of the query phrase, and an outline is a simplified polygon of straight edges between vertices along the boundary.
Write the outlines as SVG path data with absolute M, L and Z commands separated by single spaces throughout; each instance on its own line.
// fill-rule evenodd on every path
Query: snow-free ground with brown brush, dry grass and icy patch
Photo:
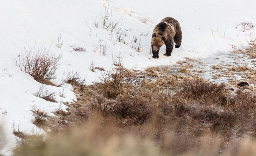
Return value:
M 86 86 L 72 74 L 77 102 L 34 123 L 49 137 L 19 130 L 19 155 L 254 155 L 255 47 L 175 66 L 121 65 Z M 250 63 L 243 63 L 244 60 Z M 246 61 L 248 62 L 248 61 Z M 237 83 L 246 81 L 249 86 Z

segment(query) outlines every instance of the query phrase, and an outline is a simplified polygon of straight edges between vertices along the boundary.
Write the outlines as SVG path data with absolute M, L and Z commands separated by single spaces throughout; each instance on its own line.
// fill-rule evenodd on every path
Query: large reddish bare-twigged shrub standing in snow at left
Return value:
M 55 72 L 59 68 L 61 55 L 56 56 L 50 52 L 50 47 L 30 47 L 24 46 L 20 55 L 15 58 L 15 65 L 22 71 L 33 76 L 40 83 L 49 84 L 50 80 L 55 79 Z

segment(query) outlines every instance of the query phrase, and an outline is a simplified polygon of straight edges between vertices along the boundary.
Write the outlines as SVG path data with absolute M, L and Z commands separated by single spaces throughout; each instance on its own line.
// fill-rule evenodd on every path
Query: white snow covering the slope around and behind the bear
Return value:
M 120 20 L 116 27 L 127 31 L 128 45 L 116 41 L 109 31 L 102 28 L 100 14 L 104 14 L 106 1 L 100 0 L 9 0 L 0 5 L 0 122 L 5 131 L 6 146 L 3 151 L 15 147 L 15 136 L 12 134 L 12 123 L 19 124 L 20 130 L 31 132 L 40 130 L 31 120 L 31 107 L 53 112 L 62 101 L 72 103 L 76 100 L 72 87 L 68 84 L 61 87 L 46 85 L 46 89 L 59 93 L 64 88 L 64 98 L 56 96 L 58 103 L 45 101 L 33 94 L 42 84 L 22 72 L 14 65 L 24 44 L 31 43 L 41 47 L 51 46 L 57 55 L 62 54 L 61 66 L 57 78 L 52 82 L 61 84 L 65 72 L 73 70 L 87 79 L 87 84 L 98 81 L 99 70 L 89 70 L 91 62 L 95 67 L 106 71 L 113 68 L 113 61 L 120 57 L 124 67 L 144 69 L 149 66 L 171 65 L 185 57 L 205 58 L 218 55 L 219 52 L 232 50 L 232 45 L 245 46 L 255 38 L 253 30 L 240 31 L 236 25 L 240 22 L 256 23 L 256 5 L 253 0 L 112 0 L 112 18 Z M 165 57 L 165 47 L 159 59 L 152 59 L 150 52 L 151 34 L 154 26 L 164 17 L 177 19 L 182 27 L 183 42 L 181 48 L 174 49 L 171 57 Z M 93 26 L 94 19 L 99 21 L 99 28 Z M 147 19 L 145 23 L 143 21 Z M 85 22 L 86 21 L 86 22 Z M 89 27 L 91 36 L 89 34 Z M 140 32 L 147 36 L 140 36 Z M 62 35 L 63 45 L 58 48 L 58 35 Z M 131 48 L 133 37 L 141 39 L 140 52 Z M 106 43 L 106 55 L 100 52 L 100 45 Z M 86 52 L 72 51 L 71 45 L 86 48 Z M 63 109 L 65 106 L 63 106 Z M 52 114 L 53 115 L 53 114 Z

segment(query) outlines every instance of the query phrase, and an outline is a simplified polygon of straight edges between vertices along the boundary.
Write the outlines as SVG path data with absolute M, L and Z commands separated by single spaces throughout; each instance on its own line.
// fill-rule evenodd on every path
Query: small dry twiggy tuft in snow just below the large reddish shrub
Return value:
M 34 95 L 46 101 L 57 102 L 54 98 L 57 94 L 55 92 L 49 92 L 47 89 L 45 89 L 44 85 L 40 86 L 39 90 L 34 93 Z

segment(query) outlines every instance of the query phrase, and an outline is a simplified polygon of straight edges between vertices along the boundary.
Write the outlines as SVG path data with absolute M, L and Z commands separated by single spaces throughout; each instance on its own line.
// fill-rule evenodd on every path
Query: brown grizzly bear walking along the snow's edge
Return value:
M 153 58 L 159 58 L 159 49 L 163 44 L 166 46 L 166 53 L 164 55 L 171 56 L 174 42 L 175 47 L 179 48 L 181 40 L 182 32 L 179 22 L 172 17 L 164 18 L 153 30 L 151 39 Z

